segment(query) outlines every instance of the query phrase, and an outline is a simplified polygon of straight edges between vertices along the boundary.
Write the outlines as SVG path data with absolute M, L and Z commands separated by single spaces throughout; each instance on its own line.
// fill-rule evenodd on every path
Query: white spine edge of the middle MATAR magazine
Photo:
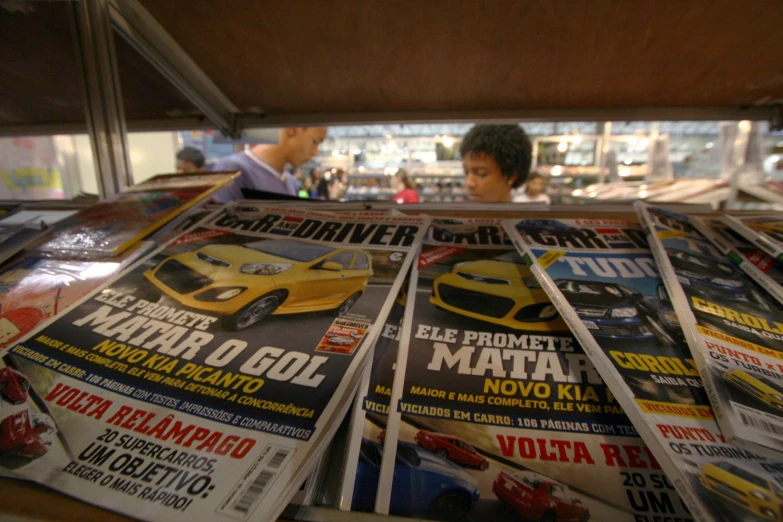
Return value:
M 416 252 L 416 258 L 421 253 L 421 243 Z M 383 457 L 381 469 L 378 474 L 378 489 L 375 494 L 375 512 L 388 515 L 391 502 L 392 483 L 394 481 L 394 464 L 397 460 L 397 442 L 400 436 L 400 399 L 405 387 L 405 372 L 408 366 L 408 347 L 410 346 L 411 329 L 413 327 L 414 305 L 416 303 L 416 290 L 419 284 L 418 262 L 411 265 L 410 280 L 408 282 L 408 295 L 405 300 L 405 312 L 402 316 L 402 329 L 397 348 L 397 360 L 392 381 L 391 396 L 389 397 L 389 415 L 386 419 L 386 435 L 383 441 Z

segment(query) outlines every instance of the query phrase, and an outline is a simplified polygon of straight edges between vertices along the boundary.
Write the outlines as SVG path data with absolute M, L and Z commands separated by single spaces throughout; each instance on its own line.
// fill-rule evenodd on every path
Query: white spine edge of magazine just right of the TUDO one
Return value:
M 677 319 L 680 321 L 680 327 L 682 328 L 685 340 L 688 343 L 688 349 L 699 370 L 699 375 L 701 376 L 702 384 L 704 385 L 704 391 L 707 392 L 707 397 L 712 406 L 712 412 L 713 415 L 715 415 L 718 427 L 720 427 L 727 442 L 736 444 L 738 441 L 735 440 L 737 434 L 734 431 L 734 426 L 731 425 L 726 416 L 726 411 L 723 408 L 723 404 L 720 401 L 714 383 L 710 379 L 710 373 L 707 371 L 707 361 L 704 358 L 700 347 L 699 336 L 696 332 L 696 316 L 688 305 L 688 297 L 685 295 L 685 291 L 677 280 L 677 274 L 674 273 L 674 267 L 669 261 L 669 256 L 666 254 L 663 243 L 657 234 L 655 234 L 655 226 L 653 225 L 649 212 L 650 206 L 642 202 L 637 202 L 634 204 L 634 207 L 639 215 L 639 221 L 644 227 L 645 236 L 650 245 L 650 251 L 655 258 L 655 263 L 658 266 L 658 272 L 661 274 L 661 279 L 663 279 L 666 292 L 669 294 L 669 299 L 671 299 L 672 306 L 677 314 Z

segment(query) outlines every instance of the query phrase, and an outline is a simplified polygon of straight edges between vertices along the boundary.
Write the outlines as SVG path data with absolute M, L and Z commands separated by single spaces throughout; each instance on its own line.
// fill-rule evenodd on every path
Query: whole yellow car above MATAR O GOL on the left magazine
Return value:
M 242 330 L 270 314 L 347 312 L 372 277 L 370 256 L 290 239 L 213 245 L 169 257 L 144 277 L 185 306 Z

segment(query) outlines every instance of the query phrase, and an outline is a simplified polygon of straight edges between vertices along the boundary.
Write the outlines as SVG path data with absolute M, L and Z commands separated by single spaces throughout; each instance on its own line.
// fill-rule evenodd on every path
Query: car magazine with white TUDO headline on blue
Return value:
M 783 518 L 783 462 L 724 440 L 639 224 L 529 219 L 504 226 L 690 516 Z M 657 515 L 672 516 L 668 506 Z

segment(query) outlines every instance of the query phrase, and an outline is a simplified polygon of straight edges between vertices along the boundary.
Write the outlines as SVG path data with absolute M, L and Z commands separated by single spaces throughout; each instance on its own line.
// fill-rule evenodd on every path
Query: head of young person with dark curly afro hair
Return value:
M 470 200 L 505 203 L 530 174 L 533 145 L 519 125 L 476 125 L 460 153 Z

